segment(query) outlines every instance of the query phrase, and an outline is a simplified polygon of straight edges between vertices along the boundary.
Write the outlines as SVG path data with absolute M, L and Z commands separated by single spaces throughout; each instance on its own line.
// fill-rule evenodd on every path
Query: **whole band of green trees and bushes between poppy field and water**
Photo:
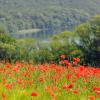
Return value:
M 68 60 L 81 58 L 81 64 L 100 66 L 100 15 L 71 31 L 54 35 L 48 42 L 16 39 L 0 28 L 0 60 L 29 63 L 59 62 L 59 55 Z

